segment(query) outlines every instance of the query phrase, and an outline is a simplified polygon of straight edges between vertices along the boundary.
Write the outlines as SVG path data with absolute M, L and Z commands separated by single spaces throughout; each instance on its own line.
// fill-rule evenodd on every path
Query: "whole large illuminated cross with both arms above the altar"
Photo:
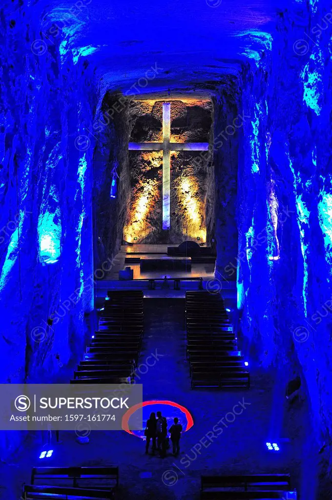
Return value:
M 162 142 L 129 142 L 130 150 L 162 150 L 162 229 L 170 229 L 170 151 L 206 151 L 208 142 L 170 142 L 170 102 L 162 104 Z

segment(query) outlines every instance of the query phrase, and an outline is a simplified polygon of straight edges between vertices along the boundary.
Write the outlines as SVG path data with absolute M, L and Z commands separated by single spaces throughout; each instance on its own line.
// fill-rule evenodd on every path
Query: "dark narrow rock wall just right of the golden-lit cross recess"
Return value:
M 243 120 L 238 112 L 236 78 L 225 82 L 214 101 L 213 164 L 215 194 L 215 276 L 236 279 L 238 137 Z

